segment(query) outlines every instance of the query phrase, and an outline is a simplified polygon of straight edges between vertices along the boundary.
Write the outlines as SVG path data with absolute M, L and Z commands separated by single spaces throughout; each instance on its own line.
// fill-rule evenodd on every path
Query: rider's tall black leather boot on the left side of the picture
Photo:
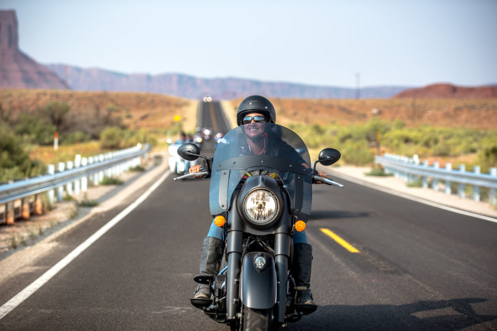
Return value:
M 211 300 L 211 284 L 219 272 L 224 253 L 224 242 L 214 237 L 205 237 L 200 256 L 200 273 L 193 277 L 199 283 L 191 303 L 198 308 L 209 306 Z

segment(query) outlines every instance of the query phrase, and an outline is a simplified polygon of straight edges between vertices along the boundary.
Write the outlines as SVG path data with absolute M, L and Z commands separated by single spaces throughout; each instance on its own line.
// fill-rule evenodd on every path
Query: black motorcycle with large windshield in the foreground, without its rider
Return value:
M 203 158 L 203 167 L 199 173 L 174 180 L 210 177 L 210 212 L 216 225 L 227 231 L 219 274 L 194 277 L 211 286 L 214 299 L 191 299 L 191 303 L 231 330 L 275 330 L 317 308 L 296 302 L 297 291 L 307 287 L 296 286 L 289 272 L 292 234 L 302 231 L 310 217 L 313 181 L 343 187 L 316 172 L 318 163 L 331 165 L 340 152 L 323 149 L 310 169 L 307 147 L 295 132 L 257 123 L 265 132 L 268 148 L 265 153 L 253 154 L 246 130 L 250 125 L 254 124 L 226 133 L 213 160 L 200 155 L 194 144 L 180 146 L 181 157 L 191 161 Z M 269 141 L 276 142 L 270 145 Z M 270 150 L 270 146 L 278 148 Z

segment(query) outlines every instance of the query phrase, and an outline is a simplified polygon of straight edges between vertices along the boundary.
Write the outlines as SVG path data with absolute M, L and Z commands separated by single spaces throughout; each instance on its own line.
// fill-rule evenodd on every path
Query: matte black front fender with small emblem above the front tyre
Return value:
M 266 259 L 266 266 L 257 271 L 253 264 L 255 255 Z M 276 303 L 276 267 L 270 254 L 247 253 L 240 272 L 240 294 L 242 303 L 252 309 L 269 309 Z

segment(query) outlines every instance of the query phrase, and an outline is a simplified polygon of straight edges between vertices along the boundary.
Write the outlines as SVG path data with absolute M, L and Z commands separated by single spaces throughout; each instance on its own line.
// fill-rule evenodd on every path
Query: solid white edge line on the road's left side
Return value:
M 0 307 L 0 320 L 10 313 L 15 307 L 20 305 L 24 300 L 26 300 L 31 294 L 36 292 L 40 287 L 42 287 L 46 282 L 48 282 L 53 276 L 55 276 L 59 271 L 61 271 L 66 265 L 69 265 L 74 259 L 76 259 L 81 253 L 84 252 L 91 244 L 97 241 L 101 236 L 103 236 L 107 231 L 109 231 L 114 225 L 119 223 L 126 215 L 128 215 L 133 209 L 138 207 L 145 199 L 147 199 L 152 192 L 154 192 L 162 182 L 164 182 L 169 176 L 170 172 L 166 172 L 154 185 L 152 185 L 143 195 L 136 199 L 132 204 L 127 206 L 119 214 L 114 216 L 110 221 L 108 221 L 104 226 L 93 233 L 88 239 L 86 239 L 80 246 L 76 247 L 71 253 L 69 253 L 65 258 L 59 261 L 56 265 L 52 266 L 48 271 L 42 274 L 38 279 L 29 284 L 22 291 L 17 293 L 12 299 L 7 301 L 3 306 Z

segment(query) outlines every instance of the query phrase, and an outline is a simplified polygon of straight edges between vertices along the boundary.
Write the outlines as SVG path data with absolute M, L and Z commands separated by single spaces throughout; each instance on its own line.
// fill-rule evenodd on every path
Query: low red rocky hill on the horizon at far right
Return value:
M 463 87 L 452 84 L 432 84 L 400 92 L 395 98 L 497 98 L 497 85 Z

